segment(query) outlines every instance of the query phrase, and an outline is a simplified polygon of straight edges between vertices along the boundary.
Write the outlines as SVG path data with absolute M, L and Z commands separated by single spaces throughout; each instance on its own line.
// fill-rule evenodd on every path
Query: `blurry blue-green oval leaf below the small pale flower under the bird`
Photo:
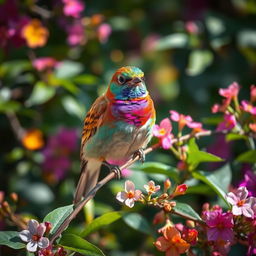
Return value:
M 145 234 L 152 235 L 152 230 L 146 218 L 138 213 L 127 213 L 123 215 L 124 222 L 131 228 Z

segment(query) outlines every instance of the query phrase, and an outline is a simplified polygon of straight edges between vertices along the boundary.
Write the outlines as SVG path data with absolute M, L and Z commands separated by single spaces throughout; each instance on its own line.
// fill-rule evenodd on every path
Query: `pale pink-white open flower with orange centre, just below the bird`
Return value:
M 127 180 L 125 182 L 125 191 L 118 192 L 116 199 L 132 208 L 134 206 L 134 202 L 140 199 L 141 193 L 142 192 L 140 190 L 135 190 L 135 186 L 132 181 Z

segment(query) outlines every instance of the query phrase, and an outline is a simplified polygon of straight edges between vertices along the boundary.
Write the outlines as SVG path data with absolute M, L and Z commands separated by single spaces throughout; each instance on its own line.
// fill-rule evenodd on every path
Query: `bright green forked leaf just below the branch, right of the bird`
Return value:
M 195 142 L 195 138 L 192 138 L 189 140 L 187 162 L 192 170 L 194 170 L 198 166 L 198 164 L 202 162 L 221 162 L 221 161 L 223 161 L 223 159 L 218 156 L 207 153 L 205 151 L 200 151 Z

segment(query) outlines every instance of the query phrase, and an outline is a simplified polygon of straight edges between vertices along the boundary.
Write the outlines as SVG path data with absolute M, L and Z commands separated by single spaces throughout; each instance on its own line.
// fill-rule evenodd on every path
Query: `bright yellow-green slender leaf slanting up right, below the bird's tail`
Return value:
M 105 227 L 122 217 L 121 212 L 108 212 L 102 216 L 94 219 L 90 224 L 87 225 L 86 229 L 80 234 L 81 237 L 88 236 L 96 230 Z

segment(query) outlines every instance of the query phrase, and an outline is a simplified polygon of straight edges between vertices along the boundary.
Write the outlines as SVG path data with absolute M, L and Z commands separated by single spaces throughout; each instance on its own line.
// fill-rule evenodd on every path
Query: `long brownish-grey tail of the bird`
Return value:
M 74 205 L 79 203 L 82 197 L 86 196 L 97 184 L 101 163 L 101 161 L 91 159 L 82 162 L 81 175 L 74 196 Z

